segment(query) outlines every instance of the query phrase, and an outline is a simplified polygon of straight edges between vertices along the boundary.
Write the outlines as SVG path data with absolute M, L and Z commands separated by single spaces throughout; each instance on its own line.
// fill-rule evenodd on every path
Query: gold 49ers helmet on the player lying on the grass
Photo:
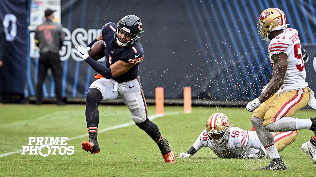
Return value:
M 216 112 L 207 120 L 205 129 L 210 141 L 221 146 L 228 140 L 229 128 L 228 117 L 221 112 Z

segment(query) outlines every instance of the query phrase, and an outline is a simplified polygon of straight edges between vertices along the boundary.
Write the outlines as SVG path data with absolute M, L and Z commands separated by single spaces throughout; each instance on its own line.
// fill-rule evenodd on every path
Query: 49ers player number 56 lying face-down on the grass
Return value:
M 280 132 L 274 135 L 278 151 L 296 140 L 297 132 Z M 266 151 L 255 131 L 231 127 L 228 117 L 220 112 L 210 116 L 206 128 L 191 148 L 180 157 L 193 156 L 202 147 L 209 147 L 221 158 L 265 158 Z

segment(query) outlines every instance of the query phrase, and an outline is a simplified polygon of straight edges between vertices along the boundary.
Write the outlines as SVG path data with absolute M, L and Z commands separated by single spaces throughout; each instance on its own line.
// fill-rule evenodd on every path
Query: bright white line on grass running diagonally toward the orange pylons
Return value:
M 165 116 L 179 114 L 179 113 L 182 113 L 182 112 L 169 112 L 169 113 L 165 113 Z M 161 116 L 151 115 L 148 118 L 150 120 L 154 120 L 157 117 L 161 117 Z M 128 126 L 133 125 L 133 124 L 135 124 L 135 123 L 134 122 L 130 122 L 130 123 L 124 123 L 122 125 L 117 125 L 117 126 L 113 126 L 113 127 L 109 127 L 109 128 L 104 128 L 104 129 L 101 129 L 100 131 L 98 131 L 98 133 L 102 133 L 102 132 L 106 132 L 106 131 L 114 130 L 114 129 L 118 129 L 118 128 L 123 128 L 123 127 L 128 127 Z M 87 134 L 82 134 L 82 135 L 79 135 L 79 136 L 76 136 L 76 137 L 68 138 L 67 141 L 69 141 L 69 140 L 76 140 L 76 139 L 79 139 L 79 138 L 84 138 L 86 136 L 88 136 L 88 135 Z M 13 152 L 7 152 L 7 153 L 4 153 L 4 154 L 0 154 L 0 158 L 9 156 L 11 154 L 21 153 L 21 152 L 22 152 L 22 150 L 13 151 Z

